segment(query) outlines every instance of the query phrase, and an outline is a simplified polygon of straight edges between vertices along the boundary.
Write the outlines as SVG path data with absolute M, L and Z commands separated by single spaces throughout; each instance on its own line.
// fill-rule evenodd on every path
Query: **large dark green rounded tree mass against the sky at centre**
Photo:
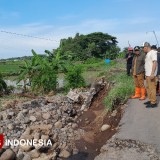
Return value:
M 116 37 L 107 33 L 94 32 L 88 35 L 77 33 L 74 38 L 62 39 L 58 49 L 61 50 L 62 57 L 72 60 L 85 60 L 96 57 L 103 58 L 106 51 L 117 47 Z

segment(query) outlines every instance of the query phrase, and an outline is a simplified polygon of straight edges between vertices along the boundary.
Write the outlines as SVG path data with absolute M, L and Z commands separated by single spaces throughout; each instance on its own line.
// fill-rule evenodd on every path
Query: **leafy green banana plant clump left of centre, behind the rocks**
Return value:
M 32 54 L 31 62 L 24 61 L 25 65 L 21 67 L 19 81 L 29 80 L 32 90 L 36 91 L 56 90 L 60 52 L 57 52 L 52 62 L 47 57 L 39 56 L 34 50 L 32 50 Z

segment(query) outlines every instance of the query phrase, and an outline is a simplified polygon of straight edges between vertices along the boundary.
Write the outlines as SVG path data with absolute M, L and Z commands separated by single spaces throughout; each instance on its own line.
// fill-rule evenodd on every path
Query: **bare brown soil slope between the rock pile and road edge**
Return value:
M 93 160 L 100 154 L 101 147 L 116 133 L 122 117 L 122 107 L 120 106 L 114 111 L 115 115 L 107 113 L 103 104 L 107 92 L 104 88 L 96 95 L 90 109 L 80 117 L 79 128 L 85 130 L 85 134 L 80 140 L 76 141 L 79 153 L 67 160 Z M 110 129 L 101 132 L 100 129 L 103 124 L 110 125 Z

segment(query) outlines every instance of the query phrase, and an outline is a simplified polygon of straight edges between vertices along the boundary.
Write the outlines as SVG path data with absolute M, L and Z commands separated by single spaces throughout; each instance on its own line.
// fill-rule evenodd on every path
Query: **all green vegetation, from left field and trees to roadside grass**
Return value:
M 1 60 L 1 91 L 13 89 L 4 85 L 8 78 L 23 81 L 23 92 L 43 95 L 57 93 L 59 77 L 64 80 L 63 91 L 69 91 L 89 86 L 97 77 L 105 76 L 113 85 L 104 102 L 107 110 L 113 110 L 133 92 L 133 80 L 126 76 L 122 60 L 126 49 L 120 52 L 117 43 L 116 37 L 101 32 L 77 33 L 74 38 L 62 39 L 56 50 L 45 50 L 44 55 L 32 50 L 33 56 L 28 58 Z M 110 59 L 110 63 L 105 59 Z

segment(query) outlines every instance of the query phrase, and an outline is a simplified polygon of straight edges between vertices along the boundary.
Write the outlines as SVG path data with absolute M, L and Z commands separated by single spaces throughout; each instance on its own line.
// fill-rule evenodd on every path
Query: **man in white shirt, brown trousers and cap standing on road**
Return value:
M 144 43 L 143 47 L 146 53 L 145 58 L 145 75 L 146 75 L 146 89 L 149 101 L 145 102 L 146 108 L 157 107 L 156 99 L 156 76 L 157 76 L 157 51 L 151 49 L 148 42 Z

